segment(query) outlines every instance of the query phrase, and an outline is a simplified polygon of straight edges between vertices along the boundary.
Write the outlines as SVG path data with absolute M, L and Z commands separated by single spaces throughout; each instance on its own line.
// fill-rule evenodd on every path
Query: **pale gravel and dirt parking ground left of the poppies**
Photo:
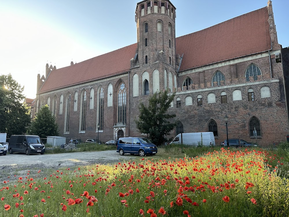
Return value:
M 75 168 L 90 164 L 115 164 L 131 159 L 136 159 L 136 157 L 129 154 L 121 156 L 116 150 L 28 156 L 21 153 L 1 155 L 0 186 L 3 181 L 15 181 L 19 176 L 27 176 L 28 170 L 30 171 L 30 177 L 39 177 L 46 175 L 43 173 L 49 169 L 59 170 L 61 168 Z M 39 170 L 42 172 L 38 173 Z

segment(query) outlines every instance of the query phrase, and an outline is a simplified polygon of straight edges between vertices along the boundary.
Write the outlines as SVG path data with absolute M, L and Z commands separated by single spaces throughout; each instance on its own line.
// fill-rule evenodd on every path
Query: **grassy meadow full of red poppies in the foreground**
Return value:
M 289 216 L 284 163 L 266 150 L 216 148 L 36 176 L 27 170 L 1 183 L 0 216 Z

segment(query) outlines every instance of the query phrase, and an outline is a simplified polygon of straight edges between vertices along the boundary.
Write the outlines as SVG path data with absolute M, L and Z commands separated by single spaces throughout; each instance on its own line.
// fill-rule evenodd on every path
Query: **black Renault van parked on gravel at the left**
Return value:
M 9 139 L 9 153 L 21 152 L 30 154 L 41 154 L 45 152 L 45 146 L 39 136 L 12 135 Z

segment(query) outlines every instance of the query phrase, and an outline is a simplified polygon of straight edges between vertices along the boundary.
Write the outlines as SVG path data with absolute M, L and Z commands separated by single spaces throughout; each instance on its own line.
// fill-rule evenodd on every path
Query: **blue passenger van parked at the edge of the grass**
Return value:
M 116 152 L 119 152 L 120 155 L 129 153 L 131 155 L 138 154 L 140 157 L 143 157 L 144 155 L 155 155 L 158 153 L 158 148 L 147 138 L 126 137 L 118 139 Z

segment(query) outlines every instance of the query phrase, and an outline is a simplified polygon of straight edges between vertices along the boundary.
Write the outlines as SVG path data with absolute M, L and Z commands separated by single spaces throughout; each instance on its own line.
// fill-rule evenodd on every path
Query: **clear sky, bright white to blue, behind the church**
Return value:
M 0 0 L 0 74 L 11 73 L 36 97 L 37 74 L 136 43 L 139 1 Z M 196 32 L 263 8 L 267 0 L 171 0 L 176 36 Z M 273 0 L 278 41 L 289 46 L 288 0 Z M 63 81 L 69 82 L 69 81 Z

